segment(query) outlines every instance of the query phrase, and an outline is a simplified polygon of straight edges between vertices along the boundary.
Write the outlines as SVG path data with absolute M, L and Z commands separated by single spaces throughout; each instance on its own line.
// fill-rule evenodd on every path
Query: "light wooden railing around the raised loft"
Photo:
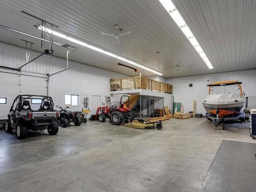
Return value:
M 111 91 L 124 89 L 147 89 L 165 93 L 172 93 L 173 91 L 171 84 L 159 82 L 142 76 L 110 79 Z

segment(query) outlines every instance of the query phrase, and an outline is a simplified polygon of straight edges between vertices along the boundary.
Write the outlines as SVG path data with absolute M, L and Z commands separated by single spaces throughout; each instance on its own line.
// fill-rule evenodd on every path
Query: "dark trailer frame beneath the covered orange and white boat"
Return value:
M 209 121 L 212 121 L 212 123 L 214 123 L 214 125 L 217 127 L 222 123 L 222 130 L 225 130 L 225 121 L 229 121 L 229 120 L 240 120 L 240 122 L 245 122 L 245 113 L 240 113 L 237 116 L 233 116 L 233 117 L 219 117 L 219 114 L 217 113 L 216 116 L 213 116 L 210 113 L 206 113 L 206 118 Z

